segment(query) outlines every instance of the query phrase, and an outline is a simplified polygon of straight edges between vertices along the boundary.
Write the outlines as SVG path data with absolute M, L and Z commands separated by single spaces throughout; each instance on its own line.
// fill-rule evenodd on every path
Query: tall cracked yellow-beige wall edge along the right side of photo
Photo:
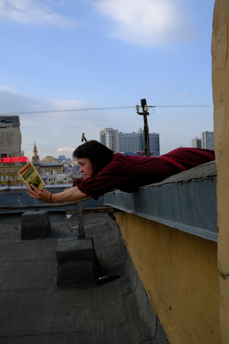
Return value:
M 229 1 L 216 0 L 212 86 L 217 168 L 218 270 L 222 343 L 229 343 Z

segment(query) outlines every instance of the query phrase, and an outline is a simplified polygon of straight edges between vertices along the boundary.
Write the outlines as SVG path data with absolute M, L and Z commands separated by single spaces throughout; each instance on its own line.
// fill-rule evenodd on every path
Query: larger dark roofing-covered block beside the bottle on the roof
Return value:
M 56 250 L 58 287 L 95 282 L 100 265 L 92 238 L 59 239 Z

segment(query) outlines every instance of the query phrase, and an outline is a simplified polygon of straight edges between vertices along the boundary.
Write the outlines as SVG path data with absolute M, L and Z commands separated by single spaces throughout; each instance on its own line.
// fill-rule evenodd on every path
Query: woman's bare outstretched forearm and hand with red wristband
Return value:
M 42 189 L 39 190 L 37 187 L 31 184 L 31 187 L 34 190 L 31 190 L 27 187 L 27 194 L 36 200 L 43 201 L 46 203 L 62 203 L 62 202 L 71 202 L 83 200 L 83 198 L 89 197 L 87 194 L 81 192 L 77 186 L 71 187 L 68 190 L 51 194 L 51 192 Z

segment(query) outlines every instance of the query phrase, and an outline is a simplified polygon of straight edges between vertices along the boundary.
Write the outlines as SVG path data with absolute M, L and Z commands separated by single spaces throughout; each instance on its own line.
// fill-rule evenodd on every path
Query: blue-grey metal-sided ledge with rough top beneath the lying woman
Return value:
M 133 193 L 104 195 L 104 204 L 217 241 L 215 161 L 169 177 Z

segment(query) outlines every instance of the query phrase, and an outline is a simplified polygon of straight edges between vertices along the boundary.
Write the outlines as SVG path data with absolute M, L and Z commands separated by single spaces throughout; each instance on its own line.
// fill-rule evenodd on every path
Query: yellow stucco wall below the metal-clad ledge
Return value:
M 217 243 L 124 212 L 116 221 L 169 342 L 220 343 Z

